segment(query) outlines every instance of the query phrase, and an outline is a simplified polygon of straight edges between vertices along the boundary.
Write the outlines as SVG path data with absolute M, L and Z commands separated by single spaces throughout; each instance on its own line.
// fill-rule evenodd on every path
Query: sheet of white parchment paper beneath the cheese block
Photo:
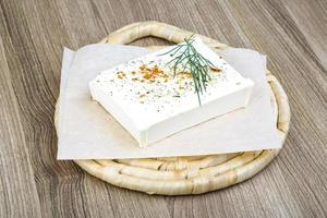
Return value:
M 243 76 L 255 82 L 249 107 L 204 122 L 148 148 L 136 141 L 90 98 L 88 82 L 99 72 L 141 57 L 144 48 L 88 45 L 64 49 L 58 113 L 58 159 L 116 159 L 193 156 L 281 147 L 274 123 L 266 57 L 247 49 L 220 53 Z

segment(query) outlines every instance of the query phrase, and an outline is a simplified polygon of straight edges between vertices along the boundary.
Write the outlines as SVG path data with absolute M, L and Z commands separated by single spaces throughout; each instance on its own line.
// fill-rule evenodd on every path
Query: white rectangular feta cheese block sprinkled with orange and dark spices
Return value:
M 193 44 L 215 68 L 199 94 L 192 73 L 168 64 L 166 52 L 152 52 L 101 72 L 89 83 L 90 94 L 130 134 L 140 147 L 168 137 L 209 119 L 246 107 L 254 83 L 242 77 L 201 39 Z M 217 133 L 218 134 L 218 133 Z

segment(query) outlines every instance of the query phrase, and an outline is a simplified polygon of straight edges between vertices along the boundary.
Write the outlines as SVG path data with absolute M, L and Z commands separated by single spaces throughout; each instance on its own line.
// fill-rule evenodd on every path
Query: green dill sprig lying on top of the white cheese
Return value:
M 204 58 L 193 46 L 194 35 L 184 38 L 184 44 L 177 45 L 171 50 L 161 53 L 160 56 L 170 55 L 173 57 L 167 64 L 173 64 L 173 76 L 178 69 L 182 72 L 189 70 L 194 82 L 195 93 L 197 95 L 198 104 L 201 105 L 201 97 L 206 92 L 207 83 L 210 80 L 209 69 L 216 66 L 206 58 Z

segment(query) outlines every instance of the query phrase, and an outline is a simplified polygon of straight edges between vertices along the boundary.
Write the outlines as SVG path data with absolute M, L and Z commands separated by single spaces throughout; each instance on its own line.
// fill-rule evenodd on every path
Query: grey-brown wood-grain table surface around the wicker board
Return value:
M 268 56 L 292 123 L 259 174 L 208 194 L 150 196 L 56 160 L 63 46 L 148 20 Z M 326 217 L 326 0 L 0 0 L 0 217 Z

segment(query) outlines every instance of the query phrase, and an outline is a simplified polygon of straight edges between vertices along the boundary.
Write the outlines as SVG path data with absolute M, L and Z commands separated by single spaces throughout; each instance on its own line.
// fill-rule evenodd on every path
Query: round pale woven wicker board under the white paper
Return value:
M 100 43 L 130 44 L 146 36 L 156 36 L 178 44 L 192 34 L 165 23 L 141 22 L 113 32 Z M 201 37 L 215 51 L 228 48 L 215 39 L 197 34 L 195 36 Z M 288 98 L 269 71 L 267 81 L 271 89 L 276 128 L 284 142 L 290 123 Z M 57 122 L 56 116 L 55 121 Z M 223 189 L 250 179 L 265 168 L 279 152 L 280 149 L 267 149 L 196 157 L 74 161 L 88 173 L 120 187 L 148 194 L 185 195 Z

